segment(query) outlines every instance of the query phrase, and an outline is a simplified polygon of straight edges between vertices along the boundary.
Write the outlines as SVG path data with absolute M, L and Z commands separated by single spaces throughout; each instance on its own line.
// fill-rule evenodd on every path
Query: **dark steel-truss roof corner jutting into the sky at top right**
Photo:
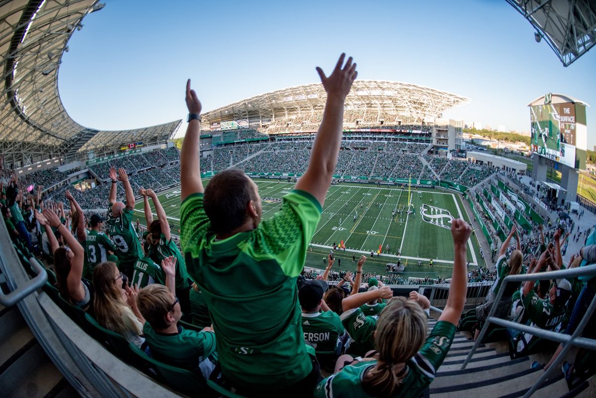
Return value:
M 596 0 L 507 0 L 569 66 L 594 46 Z

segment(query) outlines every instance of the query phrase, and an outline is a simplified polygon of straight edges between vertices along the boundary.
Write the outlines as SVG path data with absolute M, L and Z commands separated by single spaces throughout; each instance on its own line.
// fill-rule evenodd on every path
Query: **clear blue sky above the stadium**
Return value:
M 58 88 L 76 122 L 129 129 L 185 119 L 192 79 L 203 110 L 318 82 L 341 52 L 359 79 L 453 92 L 471 104 L 444 114 L 529 130 L 527 103 L 546 92 L 588 108 L 596 145 L 596 50 L 565 68 L 504 0 L 105 1 L 63 56 Z M 182 125 L 178 136 L 185 131 Z

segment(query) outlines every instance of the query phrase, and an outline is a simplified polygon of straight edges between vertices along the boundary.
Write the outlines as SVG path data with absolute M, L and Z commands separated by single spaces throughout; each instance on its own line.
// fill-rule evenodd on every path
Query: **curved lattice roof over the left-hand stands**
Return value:
M 98 0 L 0 1 L 0 152 L 4 163 L 25 166 L 48 158 L 81 158 L 85 151 L 126 142 L 160 142 L 181 120 L 136 130 L 100 131 L 70 118 L 58 94 L 58 67 L 70 36 Z M 113 139 L 117 137 L 117 139 Z M 134 138 L 131 140 L 131 138 Z

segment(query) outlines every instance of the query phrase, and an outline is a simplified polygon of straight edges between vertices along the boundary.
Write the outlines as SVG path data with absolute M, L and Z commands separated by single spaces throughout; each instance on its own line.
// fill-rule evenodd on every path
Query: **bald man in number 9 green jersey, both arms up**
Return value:
M 136 260 L 142 257 L 141 242 L 132 225 L 132 210 L 135 209 L 135 194 L 132 192 L 131 183 L 125 169 L 110 169 L 110 205 L 108 206 L 108 232 L 111 240 L 116 245 L 118 256 L 118 269 L 129 278 L 132 277 L 132 268 Z M 121 181 L 126 194 L 126 205 L 116 201 L 116 184 Z

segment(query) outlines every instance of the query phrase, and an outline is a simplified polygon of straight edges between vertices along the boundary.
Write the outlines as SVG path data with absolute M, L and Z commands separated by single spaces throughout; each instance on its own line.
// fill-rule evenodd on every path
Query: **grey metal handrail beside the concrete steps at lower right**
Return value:
M 586 310 L 585 314 L 583 315 L 582 320 L 579 322 L 578 327 L 575 329 L 572 335 L 556 333 L 548 330 L 543 330 L 541 328 L 535 326 L 527 326 L 521 325 L 517 322 L 506 321 L 505 319 L 496 318 L 495 311 L 497 305 L 501 302 L 501 298 L 503 296 L 503 292 L 505 291 L 505 285 L 508 282 L 523 282 L 523 281 L 538 281 L 541 279 L 560 279 L 560 278 L 573 278 L 576 276 L 588 276 L 588 275 L 596 275 L 596 264 L 595 265 L 588 265 L 581 268 L 572 268 L 572 269 L 561 269 L 557 271 L 548 271 L 548 272 L 537 272 L 531 274 L 521 274 L 521 275 L 508 275 L 503 279 L 501 284 L 501 288 L 499 288 L 499 292 L 496 294 L 495 302 L 491 306 L 491 310 L 486 317 L 486 321 L 478 338 L 474 342 L 474 346 L 470 350 L 467 358 L 465 359 L 464 363 L 461 365 L 461 369 L 465 369 L 465 367 L 470 362 L 470 359 L 476 352 L 478 346 L 480 346 L 480 342 L 484 338 L 486 331 L 488 330 L 489 325 L 495 324 L 502 327 L 507 327 L 515 330 L 519 330 L 522 332 L 529 332 L 532 335 L 536 335 L 541 338 L 545 338 L 547 340 L 557 341 L 558 343 L 563 343 L 564 347 L 563 350 L 557 355 L 554 362 L 552 362 L 551 366 L 547 369 L 547 371 L 542 374 L 541 378 L 532 387 L 524 394 L 523 398 L 529 398 L 535 393 L 538 388 L 541 387 L 542 383 L 546 381 L 556 369 L 563 358 L 567 355 L 567 352 L 572 347 L 582 347 L 589 350 L 596 350 L 596 339 L 593 338 L 585 338 L 580 337 L 583 332 L 583 329 L 588 324 L 589 319 L 594 315 L 596 311 L 596 296 L 592 298 L 592 302 L 590 303 L 588 310 Z

